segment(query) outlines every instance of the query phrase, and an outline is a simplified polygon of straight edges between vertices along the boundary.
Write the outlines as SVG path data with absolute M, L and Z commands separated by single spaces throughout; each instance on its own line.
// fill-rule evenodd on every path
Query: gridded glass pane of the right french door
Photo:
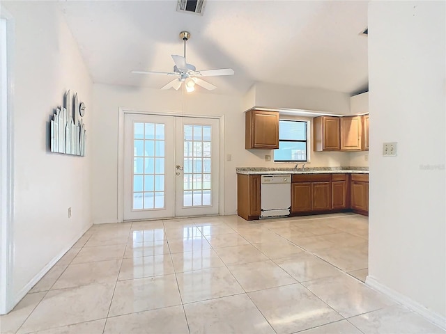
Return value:
M 184 134 L 183 206 L 210 206 L 212 205 L 211 127 L 210 125 L 185 125 Z

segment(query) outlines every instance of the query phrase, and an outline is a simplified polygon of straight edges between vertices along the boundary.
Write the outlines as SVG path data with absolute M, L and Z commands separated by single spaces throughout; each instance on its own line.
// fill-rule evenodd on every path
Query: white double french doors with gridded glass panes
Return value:
M 218 214 L 219 120 L 126 113 L 124 220 Z

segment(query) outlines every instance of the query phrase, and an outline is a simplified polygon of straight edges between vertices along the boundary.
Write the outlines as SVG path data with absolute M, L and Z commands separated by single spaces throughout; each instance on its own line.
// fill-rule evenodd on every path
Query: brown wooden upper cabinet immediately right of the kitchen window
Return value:
M 339 117 L 320 116 L 314 118 L 314 150 L 340 150 L 339 129 Z

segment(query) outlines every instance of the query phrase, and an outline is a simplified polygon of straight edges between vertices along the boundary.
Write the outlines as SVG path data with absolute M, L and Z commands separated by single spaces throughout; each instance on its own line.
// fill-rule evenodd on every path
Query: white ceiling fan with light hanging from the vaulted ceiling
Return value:
M 205 70 L 197 71 L 194 65 L 186 63 L 186 41 L 190 38 L 190 33 L 187 31 L 180 32 L 180 38 L 183 40 L 184 45 L 184 56 L 178 56 L 172 54 L 172 59 L 174 59 L 174 72 L 154 72 L 154 71 L 132 71 L 135 74 L 161 74 L 161 75 L 172 75 L 178 77 L 170 81 L 167 85 L 163 86 L 161 89 L 175 88 L 178 90 L 181 84 L 185 83 L 185 88 L 188 93 L 194 91 L 195 84 L 206 88 L 207 90 L 213 90 L 217 88 L 213 84 L 204 81 L 201 77 L 214 77 L 217 75 L 233 75 L 234 70 L 232 68 L 220 68 L 217 70 Z

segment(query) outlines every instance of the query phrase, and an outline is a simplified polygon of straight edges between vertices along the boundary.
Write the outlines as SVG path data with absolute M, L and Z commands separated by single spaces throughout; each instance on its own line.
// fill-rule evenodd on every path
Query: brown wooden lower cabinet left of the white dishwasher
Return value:
M 261 175 L 237 175 L 237 213 L 247 221 L 261 214 Z

